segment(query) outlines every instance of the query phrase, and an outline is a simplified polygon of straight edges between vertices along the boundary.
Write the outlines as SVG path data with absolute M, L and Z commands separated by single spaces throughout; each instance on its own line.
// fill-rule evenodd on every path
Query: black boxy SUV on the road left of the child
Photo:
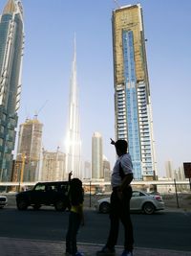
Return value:
M 64 211 L 70 207 L 69 182 L 38 182 L 32 190 L 20 192 L 16 195 L 18 210 L 26 210 L 28 206 L 38 210 L 41 205 L 52 205 L 56 211 Z

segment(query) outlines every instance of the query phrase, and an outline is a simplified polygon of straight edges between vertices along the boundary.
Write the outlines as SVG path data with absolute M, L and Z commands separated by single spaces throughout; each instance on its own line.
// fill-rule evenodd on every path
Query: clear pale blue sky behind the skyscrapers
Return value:
M 0 12 L 7 0 L 0 0 Z M 111 164 L 115 151 L 112 10 L 114 0 L 23 0 L 25 55 L 19 124 L 27 117 L 44 124 L 43 147 L 63 149 L 69 86 L 77 51 L 77 81 L 82 154 L 91 161 L 92 135 L 103 136 L 103 151 Z M 174 168 L 191 161 L 191 1 L 119 0 L 140 3 L 153 106 L 159 175 L 164 162 Z M 43 107 L 44 105 L 44 107 Z M 64 149 L 63 149 L 64 151 Z

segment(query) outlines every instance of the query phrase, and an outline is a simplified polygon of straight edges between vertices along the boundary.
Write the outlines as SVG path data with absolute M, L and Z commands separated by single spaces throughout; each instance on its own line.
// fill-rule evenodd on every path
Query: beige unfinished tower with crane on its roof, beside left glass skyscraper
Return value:
M 21 162 L 23 154 L 25 165 L 23 181 L 36 181 L 39 172 L 43 125 L 35 117 L 20 125 L 16 161 Z M 21 177 L 22 179 L 22 177 Z

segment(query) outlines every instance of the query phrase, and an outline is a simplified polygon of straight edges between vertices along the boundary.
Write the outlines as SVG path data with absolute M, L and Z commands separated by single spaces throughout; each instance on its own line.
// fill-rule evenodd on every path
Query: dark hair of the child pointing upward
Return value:
M 83 202 L 82 182 L 79 178 L 74 177 L 70 182 L 70 199 L 72 205 L 77 205 Z

